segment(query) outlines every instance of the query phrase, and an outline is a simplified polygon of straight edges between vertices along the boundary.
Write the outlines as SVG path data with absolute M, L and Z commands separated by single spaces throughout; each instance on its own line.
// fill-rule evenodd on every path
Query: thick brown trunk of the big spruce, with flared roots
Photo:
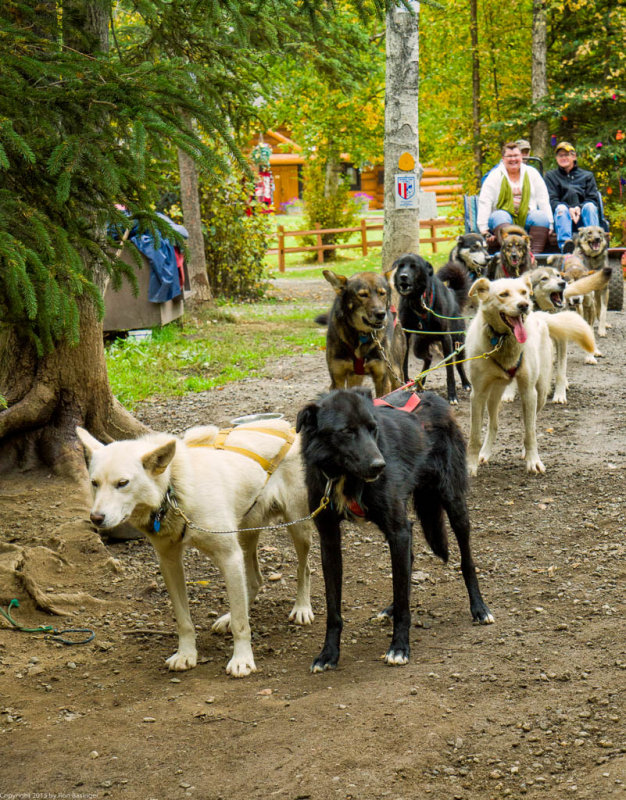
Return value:
M 107 2 L 68 0 L 63 12 L 65 45 L 90 54 L 108 50 Z M 77 30 L 69 28 L 70 18 Z M 103 239 L 105 231 L 96 228 L 95 221 L 93 225 L 95 236 Z M 87 252 L 84 258 L 104 294 L 108 279 L 104 265 Z M 106 441 L 146 430 L 113 397 L 95 306 L 86 295 L 78 297 L 77 304 L 79 343 L 60 342 L 44 356 L 37 355 L 19 329 L 0 325 L 0 395 L 7 402 L 0 411 L 0 470 L 43 463 L 75 477 L 85 470 L 76 425 Z

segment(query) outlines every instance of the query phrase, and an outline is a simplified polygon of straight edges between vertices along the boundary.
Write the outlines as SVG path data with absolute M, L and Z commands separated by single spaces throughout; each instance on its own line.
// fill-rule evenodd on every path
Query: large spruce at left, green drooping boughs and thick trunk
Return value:
M 74 474 L 77 424 L 105 441 L 142 430 L 103 351 L 104 289 L 132 280 L 115 259 L 111 232 L 128 222 L 116 204 L 156 231 L 160 158 L 178 148 L 210 172 L 219 139 L 243 164 L 235 132 L 255 113 L 264 58 L 322 52 L 331 34 L 330 1 L 2 4 L 0 468 Z

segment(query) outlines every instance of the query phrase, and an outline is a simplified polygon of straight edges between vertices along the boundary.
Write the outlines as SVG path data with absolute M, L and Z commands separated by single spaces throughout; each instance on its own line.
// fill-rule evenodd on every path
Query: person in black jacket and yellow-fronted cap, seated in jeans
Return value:
M 556 146 L 557 169 L 546 172 L 554 230 L 562 253 L 573 253 L 572 231 L 587 225 L 599 225 L 598 187 L 589 170 L 581 169 L 576 149 L 569 142 Z

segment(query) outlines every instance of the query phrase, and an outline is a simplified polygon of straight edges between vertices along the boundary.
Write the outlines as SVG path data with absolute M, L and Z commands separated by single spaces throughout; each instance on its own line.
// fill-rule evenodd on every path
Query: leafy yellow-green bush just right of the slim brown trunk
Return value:
M 215 172 L 202 182 L 204 250 L 214 295 L 249 300 L 265 292 L 270 224 L 260 204 L 250 203 L 252 194 L 251 184 L 232 173 Z

